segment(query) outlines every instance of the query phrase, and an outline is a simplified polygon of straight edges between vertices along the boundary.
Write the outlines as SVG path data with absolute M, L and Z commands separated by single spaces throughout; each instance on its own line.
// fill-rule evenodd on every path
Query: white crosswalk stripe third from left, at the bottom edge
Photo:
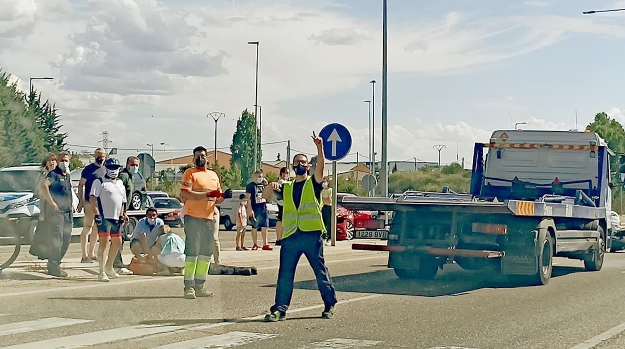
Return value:
M 222 335 L 186 340 L 184 342 L 162 345 L 154 349 L 204 349 L 204 348 L 232 348 L 249 344 L 258 340 L 279 337 L 271 333 L 253 333 L 233 331 Z

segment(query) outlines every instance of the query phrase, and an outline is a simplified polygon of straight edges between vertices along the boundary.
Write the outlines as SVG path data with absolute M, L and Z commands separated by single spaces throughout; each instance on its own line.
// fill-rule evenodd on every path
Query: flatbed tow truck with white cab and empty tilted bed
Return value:
M 352 249 L 389 252 L 399 278 L 431 279 L 456 263 L 546 285 L 556 256 L 601 270 L 611 243 L 614 155 L 589 130 L 497 130 L 474 145 L 469 194 L 409 191 L 342 197 L 340 205 L 393 212 L 386 245 Z

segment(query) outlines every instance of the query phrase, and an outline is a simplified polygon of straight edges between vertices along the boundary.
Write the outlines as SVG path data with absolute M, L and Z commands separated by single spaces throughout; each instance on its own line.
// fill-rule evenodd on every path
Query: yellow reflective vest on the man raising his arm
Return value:
M 284 196 L 284 211 L 282 212 L 282 238 L 287 238 L 297 232 L 325 232 L 326 227 L 321 217 L 321 200 L 314 195 L 312 176 L 308 176 L 302 188 L 302 197 L 299 208 L 293 202 L 294 181 L 284 183 L 282 194 Z

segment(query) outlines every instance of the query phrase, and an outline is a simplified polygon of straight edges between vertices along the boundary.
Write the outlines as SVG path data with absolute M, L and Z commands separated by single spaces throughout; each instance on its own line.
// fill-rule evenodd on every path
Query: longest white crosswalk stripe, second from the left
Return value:
M 129 327 L 117 327 L 109 330 L 96 332 L 81 333 L 80 335 L 72 335 L 59 338 L 51 338 L 40 340 L 37 342 L 24 343 L 4 347 L 7 349 L 66 349 L 66 348 L 83 348 L 89 345 L 98 345 L 116 340 L 127 340 L 131 338 L 143 337 L 148 335 L 156 335 L 157 333 L 172 332 L 181 330 L 184 327 L 174 325 L 137 325 Z

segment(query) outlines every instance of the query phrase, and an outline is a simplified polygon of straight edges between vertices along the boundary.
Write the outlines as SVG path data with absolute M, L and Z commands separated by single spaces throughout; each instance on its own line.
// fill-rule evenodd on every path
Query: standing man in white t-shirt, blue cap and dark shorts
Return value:
M 126 215 L 126 189 L 119 179 L 118 159 L 108 159 L 104 162 L 106 175 L 104 178 L 96 179 L 91 187 L 89 204 L 94 208 L 96 224 L 98 224 L 99 248 L 98 280 L 109 281 L 109 278 L 117 278 L 119 274 L 113 270 L 113 262 L 121 245 L 121 225 L 128 221 Z M 111 247 L 109 248 L 106 266 L 104 263 L 104 250 L 108 245 L 109 237 Z

